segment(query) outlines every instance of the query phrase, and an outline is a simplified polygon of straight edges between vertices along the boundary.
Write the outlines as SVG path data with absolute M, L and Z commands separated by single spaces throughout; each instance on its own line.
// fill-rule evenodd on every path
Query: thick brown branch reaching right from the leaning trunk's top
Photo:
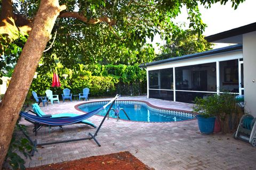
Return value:
M 64 13 L 61 13 L 59 17 L 60 18 L 76 18 L 87 24 L 97 24 L 100 22 L 107 22 L 111 26 L 116 24 L 115 20 L 111 20 L 107 16 L 103 16 L 98 19 L 91 18 L 88 20 L 84 15 L 81 15 L 78 12 L 64 12 Z

